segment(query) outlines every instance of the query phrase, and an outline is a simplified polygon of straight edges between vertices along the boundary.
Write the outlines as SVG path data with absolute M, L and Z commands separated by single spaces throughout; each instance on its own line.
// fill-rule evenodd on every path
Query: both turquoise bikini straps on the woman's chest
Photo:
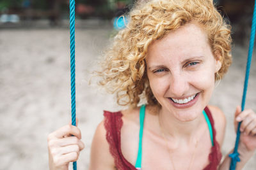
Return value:
M 136 160 L 136 164 L 135 167 L 137 169 L 141 169 L 141 159 L 142 159 L 142 136 L 143 136 L 143 126 L 144 126 L 144 118 L 145 118 L 145 110 L 146 110 L 146 105 L 143 104 L 140 108 L 140 141 L 139 141 L 139 149 L 138 149 L 138 155 L 137 155 L 137 160 Z M 210 132 L 210 136 L 211 136 L 211 141 L 212 141 L 212 146 L 214 146 L 214 142 L 213 142 L 213 136 L 212 136 L 212 125 L 211 122 L 207 116 L 207 114 L 205 113 L 205 111 L 203 111 L 205 120 L 207 122 L 207 125 L 209 127 L 209 132 Z

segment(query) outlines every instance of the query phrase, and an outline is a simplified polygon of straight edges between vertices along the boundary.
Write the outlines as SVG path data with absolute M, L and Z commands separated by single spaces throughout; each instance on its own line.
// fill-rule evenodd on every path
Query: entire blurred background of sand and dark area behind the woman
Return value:
M 86 148 L 77 162 L 88 169 L 90 145 L 102 110 L 118 111 L 115 96 L 99 89 L 92 71 L 119 29 L 133 0 L 76 1 L 77 118 Z M 253 0 L 214 1 L 232 25 L 233 64 L 212 96 L 224 111 L 223 155 L 236 139 L 233 118 L 241 104 Z M 70 121 L 69 1 L 0 1 L 0 169 L 48 169 L 47 135 Z M 256 111 L 253 54 L 246 108 Z M 254 156 L 244 169 L 255 170 Z M 71 168 L 70 168 L 71 169 Z

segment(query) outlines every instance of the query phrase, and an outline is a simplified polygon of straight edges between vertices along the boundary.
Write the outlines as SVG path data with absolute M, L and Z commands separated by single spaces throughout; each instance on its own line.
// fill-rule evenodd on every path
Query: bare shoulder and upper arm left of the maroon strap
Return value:
M 109 145 L 106 139 L 104 120 L 100 122 L 93 136 L 89 169 L 115 169 L 115 160 L 109 152 Z

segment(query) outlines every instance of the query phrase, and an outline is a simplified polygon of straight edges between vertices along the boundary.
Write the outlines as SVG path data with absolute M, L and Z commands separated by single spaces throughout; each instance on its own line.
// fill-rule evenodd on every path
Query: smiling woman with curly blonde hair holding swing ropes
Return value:
M 231 64 L 230 43 L 230 28 L 212 1 L 138 3 L 98 72 L 100 85 L 130 109 L 104 112 L 90 169 L 228 169 L 227 155 L 220 162 L 225 115 L 208 103 Z M 235 125 L 243 121 L 242 169 L 256 148 L 256 114 L 238 106 L 235 115 Z M 50 169 L 77 160 L 80 139 L 71 125 L 52 132 Z

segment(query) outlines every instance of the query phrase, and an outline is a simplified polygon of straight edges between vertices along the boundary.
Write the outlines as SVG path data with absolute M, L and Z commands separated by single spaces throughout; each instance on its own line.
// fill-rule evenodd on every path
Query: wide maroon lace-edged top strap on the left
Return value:
M 117 169 L 136 170 L 130 162 L 128 162 L 121 151 L 121 128 L 123 125 L 122 113 L 104 111 L 104 126 L 106 129 L 106 139 L 109 143 L 109 152 L 115 159 Z

